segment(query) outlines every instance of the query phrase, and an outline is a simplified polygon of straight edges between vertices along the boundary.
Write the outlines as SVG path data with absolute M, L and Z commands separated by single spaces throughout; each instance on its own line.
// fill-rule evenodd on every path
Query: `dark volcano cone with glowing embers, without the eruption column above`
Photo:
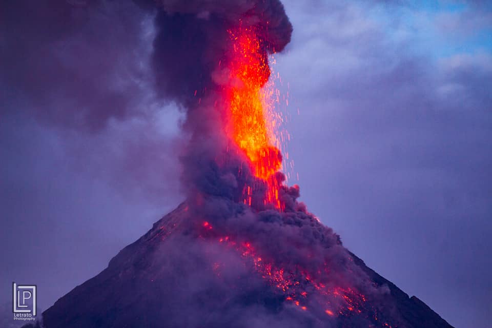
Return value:
M 155 222 L 46 310 L 43 326 L 451 327 L 301 209 L 253 213 L 214 197 L 198 204 Z M 220 215 L 204 215 L 217 206 Z

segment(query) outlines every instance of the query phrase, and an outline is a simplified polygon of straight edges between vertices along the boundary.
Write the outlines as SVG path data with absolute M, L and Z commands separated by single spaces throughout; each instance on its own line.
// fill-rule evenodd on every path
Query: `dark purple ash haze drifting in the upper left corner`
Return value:
M 151 17 L 129 1 L 3 2 L 3 114 L 99 131 L 152 103 L 145 40 Z

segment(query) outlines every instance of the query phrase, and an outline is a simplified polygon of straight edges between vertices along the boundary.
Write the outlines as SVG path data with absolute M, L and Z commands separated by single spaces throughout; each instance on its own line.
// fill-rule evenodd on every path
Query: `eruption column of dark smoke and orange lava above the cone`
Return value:
M 282 4 L 159 1 L 157 6 L 156 90 L 187 111 L 183 185 L 191 196 L 227 195 L 254 206 L 285 207 L 288 190 L 281 188 L 282 175 L 275 175 L 281 155 L 269 140 L 260 93 L 270 75 L 268 54 L 281 51 L 291 38 Z

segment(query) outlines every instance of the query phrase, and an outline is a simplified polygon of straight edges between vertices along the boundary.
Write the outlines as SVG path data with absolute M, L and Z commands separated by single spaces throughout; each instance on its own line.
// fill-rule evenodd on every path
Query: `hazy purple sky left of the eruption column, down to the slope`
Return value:
M 25 279 L 48 308 L 182 200 L 152 19 L 131 1 L 0 2 L 2 248 L 29 235 L 0 256 L 0 301 Z

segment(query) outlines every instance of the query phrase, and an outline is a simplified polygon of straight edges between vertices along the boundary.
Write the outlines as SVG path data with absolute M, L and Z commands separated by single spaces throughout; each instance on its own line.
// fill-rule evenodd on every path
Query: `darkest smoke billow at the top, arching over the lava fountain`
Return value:
M 157 90 L 185 106 L 217 87 L 214 70 L 230 53 L 227 29 L 257 27 L 270 53 L 291 39 L 292 25 L 278 0 L 156 2 L 161 8 L 153 55 Z

